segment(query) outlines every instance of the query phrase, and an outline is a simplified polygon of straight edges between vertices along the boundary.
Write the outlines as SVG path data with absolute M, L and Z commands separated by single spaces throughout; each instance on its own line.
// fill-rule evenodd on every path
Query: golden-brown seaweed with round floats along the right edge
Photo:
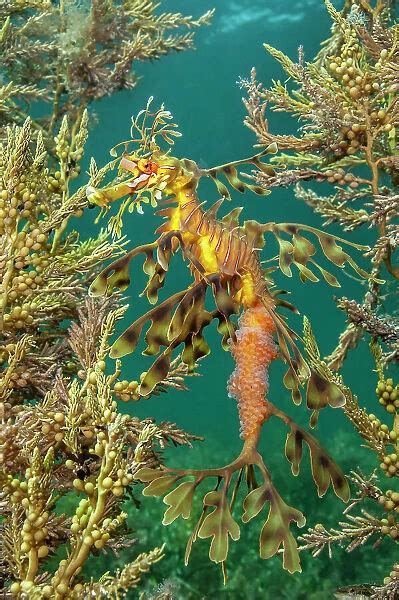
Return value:
M 256 72 L 241 81 L 248 92 L 245 123 L 255 132 L 258 146 L 277 143 L 281 152 L 272 159 L 275 175 L 253 171 L 250 180 L 265 189 L 294 185 L 295 195 L 324 219 L 346 232 L 370 228 L 373 246 L 366 253 L 372 277 L 359 302 L 337 298 L 348 324 L 337 347 L 324 360 L 315 348 L 315 360 L 326 368 L 325 376 L 345 395 L 344 414 L 363 444 L 376 456 L 378 471 L 371 476 L 354 471 L 350 479 L 357 498 L 345 510 L 348 515 L 335 529 L 322 525 L 302 536 L 301 548 L 318 555 L 324 547 L 347 542 L 348 551 L 370 538 L 378 546 L 384 539 L 396 543 L 399 526 L 399 494 L 394 482 L 399 473 L 398 436 L 399 387 L 386 373 L 399 359 L 397 248 L 399 241 L 398 123 L 399 46 L 394 3 L 378 0 L 351 0 L 338 11 L 332 2 L 325 5 L 333 20 L 332 35 L 314 61 L 306 62 L 299 49 L 298 62 L 281 50 L 265 44 L 266 50 L 282 65 L 287 83 L 273 82 L 265 88 Z M 270 131 L 266 110 L 283 111 L 301 123 L 298 136 L 281 136 Z M 304 187 L 303 182 L 313 185 Z M 318 188 L 328 184 L 332 191 L 323 195 Z M 370 235 L 370 238 L 372 236 Z M 294 259 L 291 250 L 289 262 Z M 395 302 L 396 301 L 396 302 Z M 392 307 L 392 314 L 387 311 Z M 369 337 L 375 358 L 377 399 L 388 419 L 377 416 L 379 409 L 362 408 L 355 394 L 338 374 L 362 338 Z M 306 332 L 305 332 L 306 343 Z M 376 414 L 374 414 L 374 412 Z M 381 481 L 392 481 L 392 489 Z M 370 510 L 374 506 L 374 510 Z M 352 514 L 357 509 L 356 515 Z M 348 514 L 350 512 L 350 514 Z M 356 586 L 352 592 L 356 594 Z M 362 586 L 362 591 L 365 593 Z M 348 592 L 349 593 L 349 592 Z M 372 598 L 396 598 L 399 594 L 399 568 L 395 564 L 383 585 L 370 585 Z

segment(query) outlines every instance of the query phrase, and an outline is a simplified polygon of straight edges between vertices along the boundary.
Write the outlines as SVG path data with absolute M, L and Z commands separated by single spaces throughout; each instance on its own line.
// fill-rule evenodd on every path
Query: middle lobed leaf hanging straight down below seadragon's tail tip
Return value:
M 198 537 L 212 537 L 209 558 L 216 563 L 224 562 L 229 551 L 229 536 L 236 541 L 240 537 L 240 528 L 231 516 L 229 502 L 223 492 L 208 492 L 204 497 L 204 506 L 215 506 L 202 522 Z

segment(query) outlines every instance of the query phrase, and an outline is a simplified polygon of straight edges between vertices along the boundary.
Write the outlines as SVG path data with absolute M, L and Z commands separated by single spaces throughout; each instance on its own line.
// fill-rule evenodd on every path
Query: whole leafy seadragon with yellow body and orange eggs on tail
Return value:
M 152 118 L 150 126 L 148 121 Z M 279 307 L 295 310 L 287 301 L 279 298 L 273 290 L 270 269 L 262 269 L 259 249 L 264 245 L 267 234 L 274 236 L 279 245 L 278 267 L 287 276 L 296 267 L 302 280 L 318 281 L 317 269 L 324 279 L 338 286 L 337 279 L 321 267 L 314 255 L 316 247 L 305 235 L 318 240 L 329 261 L 343 267 L 349 264 L 359 275 L 367 277 L 353 259 L 338 245 L 347 244 L 357 249 L 363 246 L 346 242 L 328 233 L 306 225 L 295 223 L 258 223 L 238 221 L 241 209 L 232 210 L 223 218 L 217 218 L 224 198 L 229 198 L 227 183 L 239 192 L 251 189 L 257 194 L 267 190 L 252 186 L 242 180 L 237 167 L 254 164 L 266 174 L 274 174 L 263 157 L 275 153 L 274 144 L 245 160 L 228 163 L 213 169 L 200 169 L 196 163 L 172 157 L 157 144 L 161 136 L 169 143 L 176 135 L 175 125 L 168 124 L 170 114 L 161 108 L 151 114 L 149 106 L 133 121 L 133 129 L 140 133 L 138 149 L 129 153 L 128 143 L 120 161 L 120 174 L 115 185 L 104 189 L 89 187 L 89 201 L 107 209 L 115 200 L 127 197 L 113 225 L 120 222 L 122 212 L 129 207 L 142 211 L 142 202 L 156 206 L 168 205 L 158 211 L 165 222 L 157 230 L 157 239 L 134 248 L 123 258 L 109 265 L 93 282 L 91 294 L 109 294 L 114 288 L 125 290 L 129 283 L 129 263 L 139 254 L 145 257 L 144 271 L 148 275 L 146 295 L 155 306 L 139 317 L 114 342 L 111 356 L 122 357 L 133 352 L 144 326 L 149 323 L 145 334 L 147 348 L 144 354 L 156 357 L 139 387 L 139 394 L 148 396 L 168 374 L 172 355 L 183 346 L 182 360 L 189 370 L 209 353 L 204 338 L 204 329 L 214 319 L 222 335 L 225 349 L 231 351 L 236 367 L 228 383 L 228 391 L 238 403 L 243 448 L 230 464 L 213 469 L 140 469 L 136 479 L 148 483 L 146 496 L 164 496 L 168 506 L 163 523 L 168 525 L 176 518 L 190 516 L 196 488 L 206 478 L 214 478 L 215 486 L 203 498 L 203 510 L 187 544 L 186 562 L 191 547 L 197 538 L 211 538 L 210 558 L 224 567 L 228 554 L 229 537 L 237 540 L 240 529 L 232 516 L 237 492 L 242 484 L 248 488 L 243 502 L 243 522 L 256 517 L 267 505 L 268 516 L 260 534 L 260 555 L 269 558 L 282 546 L 283 565 L 290 572 L 300 571 L 296 541 L 290 532 L 290 523 L 299 526 L 305 523 L 302 513 L 288 506 L 273 486 L 269 471 L 257 451 L 263 424 L 272 416 L 284 421 L 289 428 L 286 440 L 286 456 L 292 472 L 297 475 L 302 458 L 303 444 L 310 450 L 312 474 L 319 496 L 330 483 L 337 496 L 343 501 L 349 498 L 348 483 L 331 457 L 320 447 L 316 439 L 266 399 L 268 391 L 268 368 L 277 357 L 288 365 L 284 378 L 285 386 L 291 390 L 295 404 L 301 402 L 300 387 L 307 382 L 307 405 L 313 411 L 313 424 L 318 411 L 330 405 L 342 406 L 344 397 L 338 386 L 328 382 L 314 360 L 317 347 L 309 352 L 309 364 L 304 360 L 295 339 L 296 334 L 278 313 Z M 222 195 L 208 210 L 203 209 L 197 196 L 201 177 L 211 177 Z M 288 239 L 287 239 L 288 238 Z M 337 243 L 338 242 L 338 243 Z M 171 256 L 180 248 L 193 276 L 192 284 L 157 304 L 158 290 L 163 287 Z M 213 295 L 215 308 L 207 310 L 207 291 Z M 233 315 L 241 313 L 237 325 Z M 307 324 L 307 327 L 308 324 Z M 309 334 L 308 331 L 308 338 Z M 313 356 L 313 358 L 312 358 Z M 323 368 L 327 368 L 325 365 Z M 261 482 L 255 476 L 257 467 Z

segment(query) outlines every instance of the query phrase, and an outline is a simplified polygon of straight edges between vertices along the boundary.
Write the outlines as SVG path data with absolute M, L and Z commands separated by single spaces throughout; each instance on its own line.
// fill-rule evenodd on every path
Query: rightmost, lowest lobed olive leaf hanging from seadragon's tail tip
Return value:
M 290 523 L 295 521 L 298 527 L 305 525 L 303 514 L 288 506 L 279 496 L 274 487 L 270 490 L 270 510 L 260 533 L 260 556 L 270 558 L 274 556 L 280 546 L 283 546 L 283 568 L 289 573 L 301 571 L 299 553 L 296 540 L 290 531 Z

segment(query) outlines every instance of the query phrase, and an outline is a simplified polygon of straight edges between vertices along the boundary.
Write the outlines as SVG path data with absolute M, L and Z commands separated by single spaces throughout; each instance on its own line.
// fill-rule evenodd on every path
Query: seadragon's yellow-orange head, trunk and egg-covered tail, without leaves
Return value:
M 258 158 L 252 157 L 248 161 L 256 161 Z M 164 184 L 161 185 L 163 194 L 167 197 L 164 202 L 170 206 L 158 211 L 165 219 L 165 223 L 157 229 L 160 234 L 157 246 L 161 249 L 161 252 L 158 250 L 159 263 L 167 270 L 162 249 L 165 244 L 169 244 L 173 252 L 180 244 L 194 276 L 191 289 L 202 285 L 202 282 L 215 284 L 217 280 L 222 289 L 228 290 L 232 303 L 236 304 L 234 312 L 238 312 L 240 307 L 244 309 L 240 329 L 231 345 L 237 367 L 229 383 L 229 393 L 237 399 L 239 405 L 242 437 L 246 439 L 257 436 L 268 415 L 265 399 L 267 369 L 271 360 L 277 356 L 273 342 L 277 315 L 275 302 L 260 264 L 259 251 L 255 247 L 258 232 L 253 230 L 253 224 L 251 230 L 218 220 L 217 209 L 221 202 L 217 202 L 208 211 L 203 210 L 204 203 L 199 201 L 197 195 L 201 172 L 191 161 L 152 155 L 151 160 L 140 162 L 128 155 L 122 159 L 121 167 L 132 173 L 132 180 L 109 190 L 89 190 L 90 200 L 106 205 L 107 201 L 116 200 L 120 195 L 132 195 L 137 189 L 143 190 L 144 182 L 154 187 L 156 181 Z M 219 167 L 225 173 L 230 173 L 231 169 L 229 165 Z M 93 284 L 92 294 L 97 293 L 99 283 L 97 280 Z M 121 285 L 121 281 L 118 285 Z M 102 290 L 103 287 L 100 287 Z M 188 295 L 190 291 L 189 289 Z M 128 333 L 124 334 L 119 344 L 114 344 L 114 357 L 125 353 L 128 337 Z M 269 351 L 262 360 L 262 353 L 266 348 Z M 252 364 L 255 362 L 258 362 L 257 368 Z M 252 376 L 249 376 L 250 373 Z

